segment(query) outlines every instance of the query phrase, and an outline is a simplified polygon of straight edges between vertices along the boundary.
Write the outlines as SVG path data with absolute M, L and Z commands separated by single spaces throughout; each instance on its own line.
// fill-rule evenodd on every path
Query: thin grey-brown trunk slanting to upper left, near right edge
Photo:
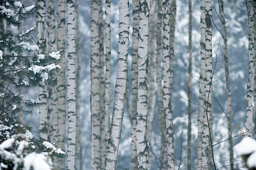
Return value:
M 234 157 L 233 157 L 233 141 L 232 141 L 232 112 L 231 112 L 231 94 L 229 84 L 229 62 L 228 62 L 228 40 L 226 38 L 226 22 L 224 17 L 224 2 L 220 0 L 220 16 L 222 24 L 222 37 L 224 39 L 224 62 L 225 62 L 225 76 L 226 76 L 226 95 L 228 103 L 228 138 L 229 138 L 229 159 L 230 169 L 234 169 Z

